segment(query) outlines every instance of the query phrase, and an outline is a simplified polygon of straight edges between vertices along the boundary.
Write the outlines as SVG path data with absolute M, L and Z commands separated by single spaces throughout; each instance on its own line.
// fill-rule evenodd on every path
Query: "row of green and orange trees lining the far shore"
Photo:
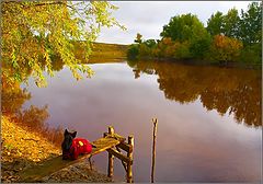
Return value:
M 217 11 L 207 26 L 191 13 L 171 18 L 160 33 L 161 39 L 142 39 L 139 33 L 128 48 L 129 59 L 204 60 L 261 65 L 262 2 L 252 2 L 247 11 Z

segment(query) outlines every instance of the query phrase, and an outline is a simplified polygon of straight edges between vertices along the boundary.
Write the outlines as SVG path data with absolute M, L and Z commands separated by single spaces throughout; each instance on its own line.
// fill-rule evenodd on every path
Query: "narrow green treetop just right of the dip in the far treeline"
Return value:
M 211 36 L 222 33 L 222 19 L 224 15 L 219 11 L 208 19 L 206 28 Z

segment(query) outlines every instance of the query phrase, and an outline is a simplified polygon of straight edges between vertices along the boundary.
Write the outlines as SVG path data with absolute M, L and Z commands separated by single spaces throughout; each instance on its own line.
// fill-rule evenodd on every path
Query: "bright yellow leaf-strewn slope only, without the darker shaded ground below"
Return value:
M 12 162 L 23 158 L 33 162 L 47 159 L 50 154 L 59 154 L 60 149 L 39 134 L 28 131 L 2 116 L 2 161 Z

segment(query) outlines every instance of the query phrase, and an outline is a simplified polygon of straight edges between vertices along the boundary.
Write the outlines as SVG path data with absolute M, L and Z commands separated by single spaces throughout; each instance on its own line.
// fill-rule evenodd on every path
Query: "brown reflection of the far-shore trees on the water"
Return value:
M 129 64 L 135 78 L 155 73 L 159 89 L 169 100 L 190 103 L 201 100 L 208 111 L 233 114 L 238 123 L 261 126 L 261 71 L 184 66 L 171 62 L 138 61 Z

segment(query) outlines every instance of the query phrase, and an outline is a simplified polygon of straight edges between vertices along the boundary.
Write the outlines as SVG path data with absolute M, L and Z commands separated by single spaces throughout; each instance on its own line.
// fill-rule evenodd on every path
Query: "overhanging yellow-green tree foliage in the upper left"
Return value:
M 117 25 L 106 1 L 1 1 L 2 80 L 22 82 L 28 74 L 37 85 L 45 84 L 44 70 L 53 76 L 53 56 L 61 58 L 73 77 L 88 77 L 92 70 L 73 54 L 72 41 L 85 42 L 85 58 L 102 26 Z

